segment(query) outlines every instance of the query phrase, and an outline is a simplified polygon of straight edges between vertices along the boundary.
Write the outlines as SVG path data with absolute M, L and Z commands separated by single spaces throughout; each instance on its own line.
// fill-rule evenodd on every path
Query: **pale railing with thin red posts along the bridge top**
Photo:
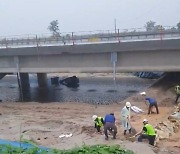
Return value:
M 77 33 L 61 33 L 55 37 L 50 34 L 24 35 L 14 37 L 0 37 L 0 48 L 15 48 L 28 46 L 54 46 L 75 45 L 91 43 L 111 43 L 123 41 L 141 41 L 153 39 L 180 38 L 180 30 L 160 29 L 157 31 L 145 31 L 144 29 L 107 30 Z

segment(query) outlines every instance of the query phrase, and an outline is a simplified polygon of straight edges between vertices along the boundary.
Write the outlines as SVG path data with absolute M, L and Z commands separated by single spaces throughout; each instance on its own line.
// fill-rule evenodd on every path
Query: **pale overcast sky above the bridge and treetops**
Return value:
M 0 0 L 0 36 L 141 28 L 149 20 L 164 26 L 180 21 L 180 0 Z

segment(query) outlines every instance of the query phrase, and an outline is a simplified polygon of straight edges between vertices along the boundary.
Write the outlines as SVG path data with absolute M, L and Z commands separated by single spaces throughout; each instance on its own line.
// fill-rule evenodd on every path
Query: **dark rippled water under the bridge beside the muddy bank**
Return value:
M 119 102 L 149 87 L 155 80 L 138 77 L 117 77 L 116 83 L 112 77 L 79 77 L 78 88 L 68 88 L 64 85 L 51 85 L 48 77 L 48 87 L 39 88 L 36 75 L 30 75 L 30 88 L 23 90 L 23 100 L 27 102 L 86 102 L 92 104 L 109 104 Z M 17 78 L 8 75 L 0 80 L 0 99 L 5 102 L 20 100 Z

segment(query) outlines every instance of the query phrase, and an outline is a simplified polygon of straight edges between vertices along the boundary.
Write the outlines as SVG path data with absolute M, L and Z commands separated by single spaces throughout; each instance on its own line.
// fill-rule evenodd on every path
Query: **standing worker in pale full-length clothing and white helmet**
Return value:
M 126 102 L 126 105 L 121 110 L 121 120 L 122 120 L 124 135 L 126 135 L 127 130 L 129 130 L 129 133 L 131 133 L 130 110 L 131 110 L 131 103 Z

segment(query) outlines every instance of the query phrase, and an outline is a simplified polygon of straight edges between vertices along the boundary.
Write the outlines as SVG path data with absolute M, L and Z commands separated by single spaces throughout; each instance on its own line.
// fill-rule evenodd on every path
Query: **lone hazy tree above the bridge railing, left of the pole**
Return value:
M 50 22 L 50 25 L 48 26 L 48 30 L 52 32 L 53 36 L 55 37 L 60 37 L 60 32 L 59 32 L 59 22 L 58 20 L 53 20 Z

